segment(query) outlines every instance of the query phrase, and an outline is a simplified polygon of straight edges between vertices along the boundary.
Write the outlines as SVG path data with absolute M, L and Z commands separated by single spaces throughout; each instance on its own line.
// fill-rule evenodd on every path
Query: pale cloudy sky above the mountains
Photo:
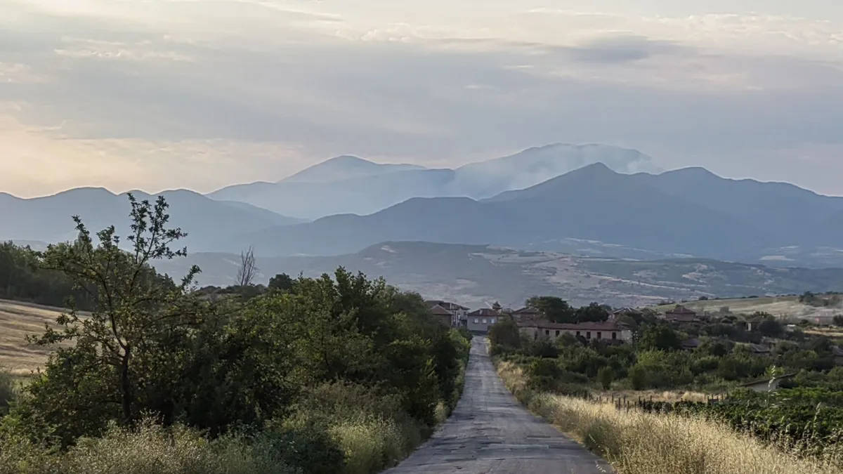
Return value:
M 704 6 L 701 6 L 705 3 Z M 0 191 L 548 143 L 843 195 L 831 0 L 0 0 Z

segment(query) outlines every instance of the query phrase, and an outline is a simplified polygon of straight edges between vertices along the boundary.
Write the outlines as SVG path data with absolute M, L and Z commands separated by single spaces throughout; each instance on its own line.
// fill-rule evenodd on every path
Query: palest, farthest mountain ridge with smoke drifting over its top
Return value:
M 375 164 L 341 156 L 276 183 L 228 186 L 213 199 L 249 202 L 298 218 L 369 214 L 412 197 L 483 199 L 524 189 L 588 164 L 613 170 L 658 172 L 652 158 L 637 150 L 606 145 L 556 143 L 529 148 L 499 159 L 466 164 L 455 170 L 430 170 L 412 164 Z

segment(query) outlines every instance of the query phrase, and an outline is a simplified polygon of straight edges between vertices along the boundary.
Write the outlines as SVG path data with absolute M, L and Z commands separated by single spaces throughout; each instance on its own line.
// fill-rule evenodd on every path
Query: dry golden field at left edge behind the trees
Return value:
M 0 299 L 0 367 L 18 375 L 41 367 L 50 350 L 30 345 L 26 336 L 43 332 L 44 325 L 54 323 L 61 312 L 49 306 Z

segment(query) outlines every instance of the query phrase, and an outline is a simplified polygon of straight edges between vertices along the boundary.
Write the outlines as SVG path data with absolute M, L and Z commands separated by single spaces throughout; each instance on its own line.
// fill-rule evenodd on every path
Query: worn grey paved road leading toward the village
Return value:
M 389 474 L 602 474 L 609 465 L 518 404 L 475 337 L 448 422 Z

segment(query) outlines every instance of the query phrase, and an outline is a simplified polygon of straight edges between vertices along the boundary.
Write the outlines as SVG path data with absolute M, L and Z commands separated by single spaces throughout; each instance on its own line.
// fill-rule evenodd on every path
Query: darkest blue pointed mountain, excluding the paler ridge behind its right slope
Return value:
M 669 197 L 593 164 L 523 191 L 476 202 L 414 198 L 368 216 L 340 215 L 244 235 L 262 255 L 337 255 L 384 240 L 555 250 L 563 237 L 699 256 L 733 256 L 765 235 L 736 218 Z M 719 229 L 731 229 L 722 240 Z

